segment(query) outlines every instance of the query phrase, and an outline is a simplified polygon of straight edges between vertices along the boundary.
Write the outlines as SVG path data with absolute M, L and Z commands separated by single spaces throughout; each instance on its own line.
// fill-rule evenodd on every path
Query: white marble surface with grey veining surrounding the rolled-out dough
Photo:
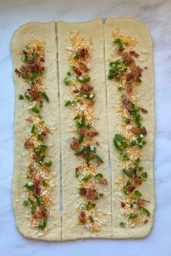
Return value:
M 109 15 L 140 20 L 148 26 L 154 38 L 157 210 L 153 231 L 146 239 L 137 241 L 88 240 L 46 243 L 24 239 L 14 224 L 11 199 L 14 86 L 9 45 L 12 33 L 18 26 L 33 20 L 79 22 Z M 171 255 L 170 16 L 170 0 L 0 0 L 0 255 Z

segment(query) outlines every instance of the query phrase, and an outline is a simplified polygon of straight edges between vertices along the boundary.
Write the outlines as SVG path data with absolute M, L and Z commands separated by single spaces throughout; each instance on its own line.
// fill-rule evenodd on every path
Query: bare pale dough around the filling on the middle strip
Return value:
M 100 165 L 99 172 L 109 181 L 108 171 L 108 133 L 107 133 L 107 102 L 106 86 L 104 75 L 104 24 L 101 19 L 82 23 L 58 22 L 59 39 L 59 90 L 60 90 L 60 116 L 61 116 L 61 136 L 62 136 L 62 166 L 63 166 L 63 207 L 62 218 L 62 240 L 68 239 L 86 239 L 86 238 L 112 238 L 111 215 L 107 219 L 107 225 L 101 227 L 100 232 L 88 231 L 83 226 L 77 225 L 78 211 L 78 189 L 77 179 L 75 178 L 75 167 L 78 163 L 78 157 L 70 149 L 70 142 L 73 133 L 70 133 L 70 123 L 72 123 L 73 112 L 70 107 L 64 107 L 64 104 L 70 99 L 70 89 L 64 85 L 64 77 L 69 70 L 69 60 L 66 47 L 70 46 L 70 37 L 68 31 L 80 31 L 85 38 L 92 37 L 93 51 L 91 69 L 91 80 L 93 91 L 96 94 L 95 105 L 93 107 L 94 115 L 98 117 L 95 121 L 95 128 L 99 130 L 97 140 L 100 146 L 97 147 L 99 156 L 104 163 Z M 111 212 L 111 191 L 110 185 L 105 187 L 105 197 L 96 202 L 101 210 Z

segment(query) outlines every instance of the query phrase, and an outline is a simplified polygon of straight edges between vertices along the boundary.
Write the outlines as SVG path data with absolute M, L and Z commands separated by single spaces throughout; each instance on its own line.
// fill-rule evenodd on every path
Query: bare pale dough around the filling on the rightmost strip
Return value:
M 143 67 L 147 66 L 147 70 L 143 70 L 142 84 L 137 88 L 140 96 L 139 105 L 148 110 L 147 115 L 143 115 L 143 125 L 148 131 L 146 136 L 146 146 L 142 149 L 142 165 L 148 173 L 148 179 L 141 185 L 139 189 L 144 198 L 149 199 L 148 209 L 151 212 L 149 223 L 135 228 L 122 228 L 120 222 L 124 218 L 120 218 L 120 209 L 117 207 L 117 190 L 114 181 L 120 178 L 121 167 L 120 154 L 113 145 L 114 134 L 120 128 L 122 122 L 120 116 L 116 115 L 117 107 L 119 106 L 119 94 L 117 85 L 114 81 L 107 78 L 109 70 L 110 55 L 112 53 L 112 31 L 114 28 L 120 29 L 120 34 L 129 34 L 136 38 L 136 52 L 140 53 L 142 49 L 146 49 L 147 53 L 143 54 Z M 137 20 L 129 18 L 107 18 L 104 25 L 104 40 L 105 40 L 105 64 L 107 78 L 107 110 L 108 110 L 108 125 L 109 125 L 109 152 L 112 162 L 112 237 L 114 239 L 142 238 L 147 236 L 154 222 L 155 210 L 155 194 L 154 194 L 154 136 L 155 136 L 155 115 L 154 115 L 154 67 L 153 67 L 153 43 L 149 30 Z M 141 63 L 138 63 L 141 65 Z

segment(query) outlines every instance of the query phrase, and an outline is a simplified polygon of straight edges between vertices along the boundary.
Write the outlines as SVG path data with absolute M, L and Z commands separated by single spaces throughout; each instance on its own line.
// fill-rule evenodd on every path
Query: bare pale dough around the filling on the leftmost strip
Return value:
M 24 149 L 25 138 L 28 136 L 30 128 L 25 121 L 28 117 L 27 103 L 19 100 L 18 95 L 23 94 L 28 86 L 18 78 L 15 73 L 15 120 L 14 120 L 14 175 L 12 179 L 12 202 L 14 214 L 17 221 L 17 228 L 20 233 L 29 239 L 41 239 L 47 241 L 61 240 L 61 216 L 59 212 L 59 160 L 60 160 L 60 137 L 59 137 L 59 99 L 58 99 L 58 82 L 57 82 L 57 44 L 55 33 L 55 22 L 40 23 L 30 22 L 22 25 L 12 38 L 12 59 L 14 69 L 21 67 L 22 49 L 28 44 L 28 41 L 38 39 L 45 42 L 45 66 L 47 67 L 46 78 L 44 84 L 46 86 L 46 94 L 49 96 L 49 104 L 44 103 L 43 119 L 51 128 L 56 126 L 57 129 L 49 135 L 47 144 L 55 141 L 55 145 L 49 148 L 53 166 L 51 171 L 54 173 L 54 182 L 56 183 L 52 199 L 54 206 L 51 209 L 53 218 L 48 219 L 49 233 L 44 236 L 37 236 L 28 226 L 26 218 L 27 209 L 23 206 L 23 197 L 25 176 L 27 173 L 27 161 L 23 156 L 26 152 Z M 49 66 L 50 65 L 50 66 Z

